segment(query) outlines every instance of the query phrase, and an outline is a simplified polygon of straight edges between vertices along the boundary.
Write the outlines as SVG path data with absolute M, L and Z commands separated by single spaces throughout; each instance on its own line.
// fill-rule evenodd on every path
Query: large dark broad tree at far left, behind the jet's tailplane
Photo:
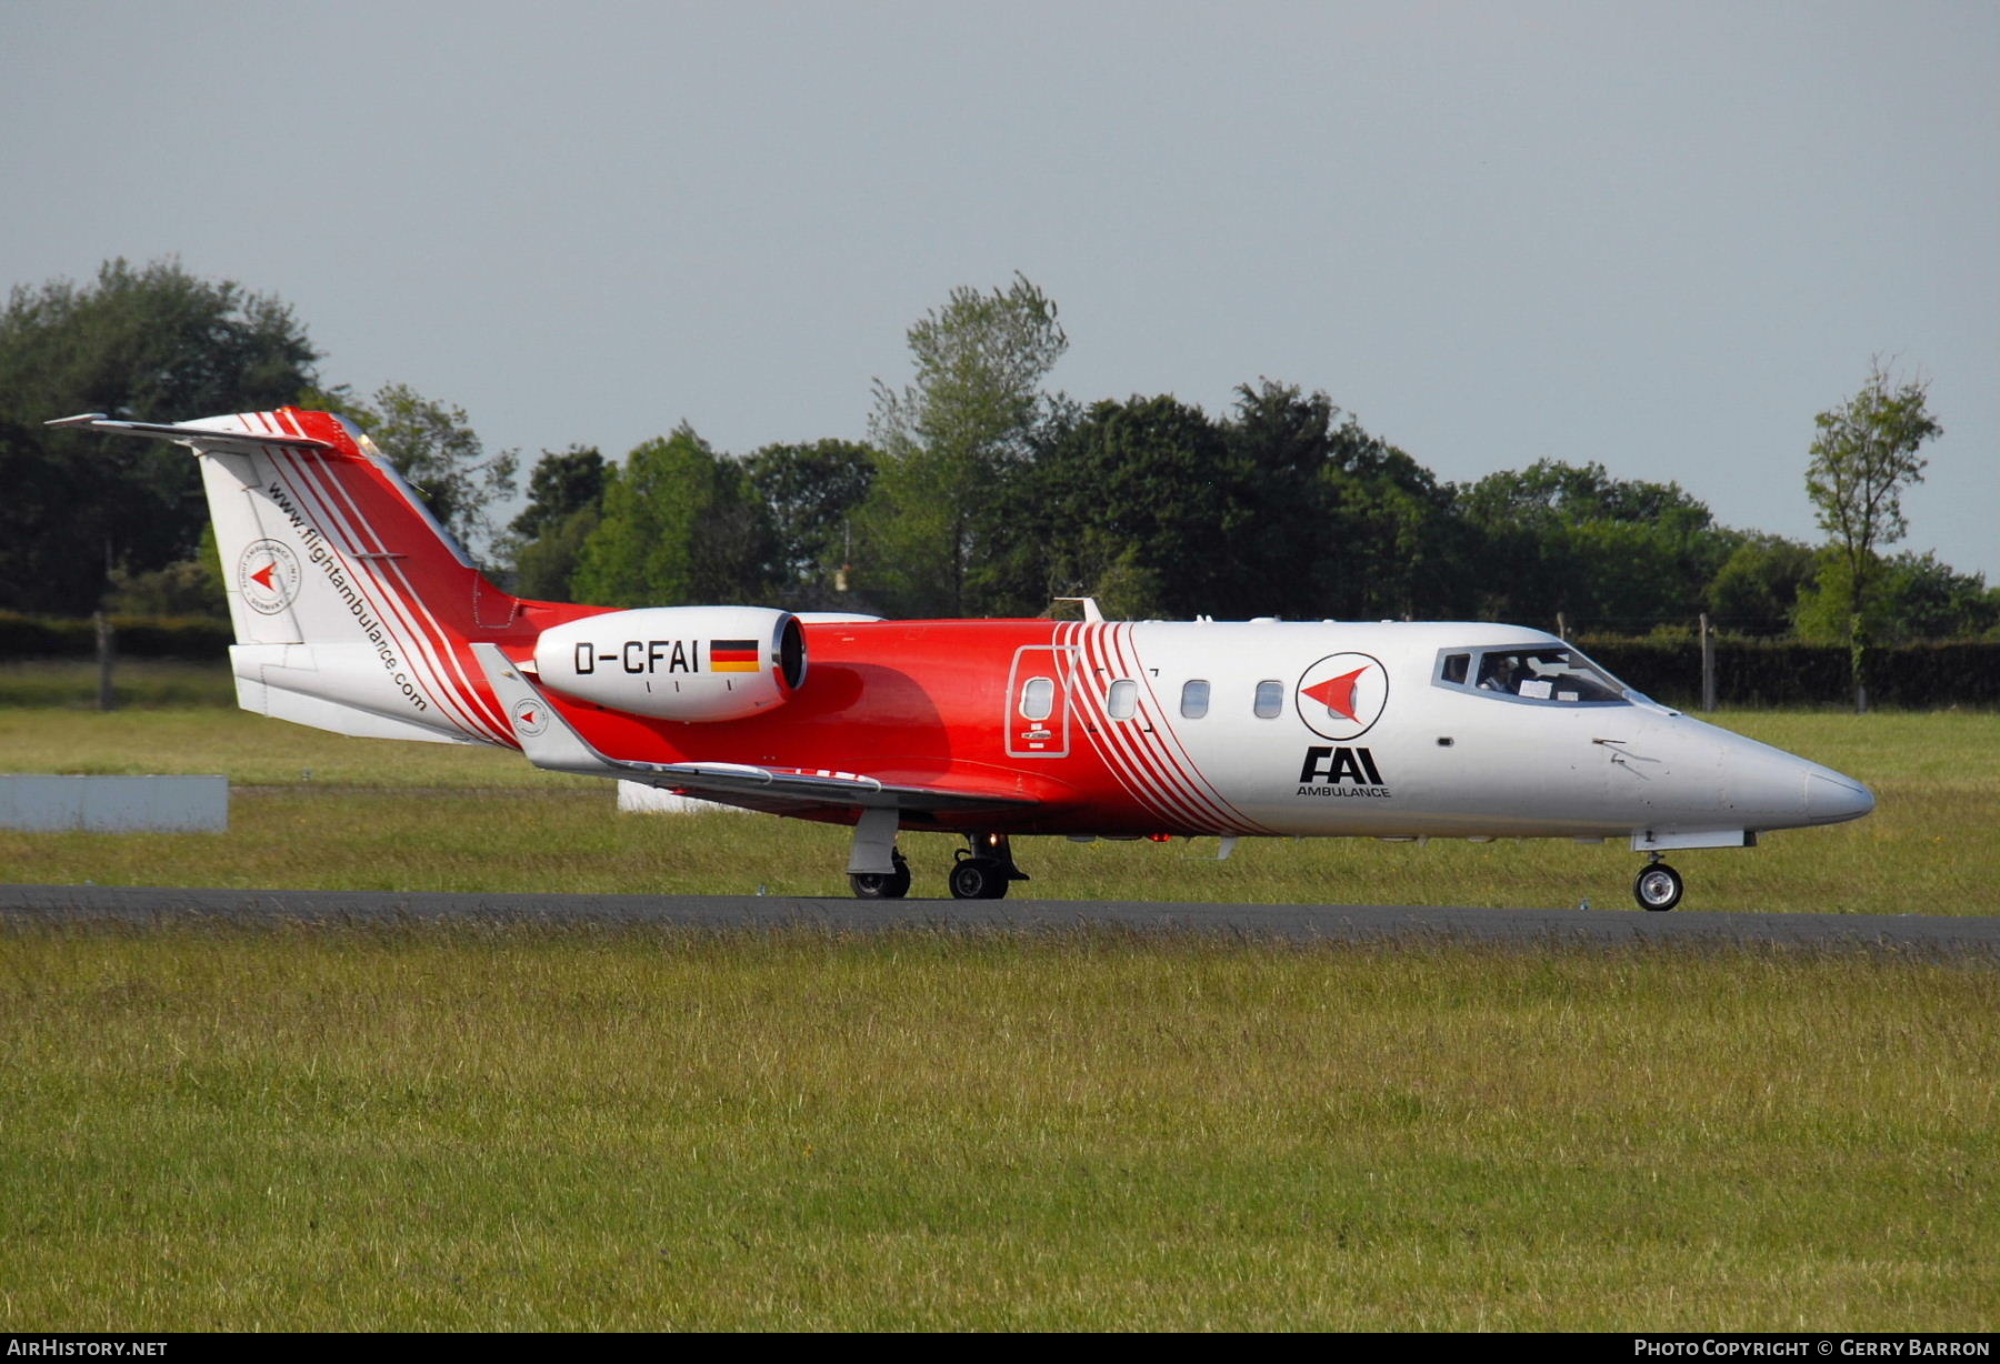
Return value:
M 318 352 L 290 306 L 176 260 L 16 286 L 0 310 L 0 606 L 88 612 L 114 570 L 194 556 L 208 524 L 186 450 L 42 422 L 182 422 L 294 402 Z

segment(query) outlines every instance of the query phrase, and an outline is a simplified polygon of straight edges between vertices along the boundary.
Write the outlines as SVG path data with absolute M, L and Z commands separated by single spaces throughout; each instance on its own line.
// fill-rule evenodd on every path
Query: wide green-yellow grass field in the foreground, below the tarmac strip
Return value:
M 2000 972 L 0 930 L 0 1330 L 2000 1326 Z

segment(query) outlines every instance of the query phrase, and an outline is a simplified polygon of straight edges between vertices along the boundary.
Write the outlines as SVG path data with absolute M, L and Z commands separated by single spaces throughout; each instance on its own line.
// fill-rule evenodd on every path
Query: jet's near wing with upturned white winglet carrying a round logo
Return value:
M 514 724 L 514 738 L 520 740 L 522 754 L 534 766 L 550 772 L 616 776 L 766 814 L 856 808 L 976 814 L 1040 804 L 1032 796 L 996 796 L 944 786 L 894 784 L 858 772 L 808 772 L 802 768 L 766 768 L 738 762 L 632 762 L 612 758 L 592 748 L 548 704 L 542 688 L 530 682 L 500 652 L 498 644 L 474 644 L 472 652 L 486 670 L 486 680 L 492 682 L 502 710 L 506 710 Z

